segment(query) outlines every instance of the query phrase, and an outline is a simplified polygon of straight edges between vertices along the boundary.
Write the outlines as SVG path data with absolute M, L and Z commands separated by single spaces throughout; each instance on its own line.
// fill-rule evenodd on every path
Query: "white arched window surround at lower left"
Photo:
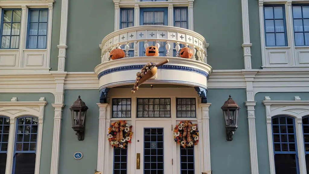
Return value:
M 0 115 L 10 118 L 10 134 L 6 159 L 6 174 L 11 174 L 13 170 L 13 155 L 16 134 L 16 121 L 18 117 L 29 115 L 38 117 L 38 137 L 36 144 L 36 164 L 34 174 L 40 173 L 41 146 L 43 134 L 43 117 L 44 108 L 47 102 L 45 97 L 41 97 L 39 101 L 17 101 L 17 97 L 13 97 L 11 101 L 0 102 Z

